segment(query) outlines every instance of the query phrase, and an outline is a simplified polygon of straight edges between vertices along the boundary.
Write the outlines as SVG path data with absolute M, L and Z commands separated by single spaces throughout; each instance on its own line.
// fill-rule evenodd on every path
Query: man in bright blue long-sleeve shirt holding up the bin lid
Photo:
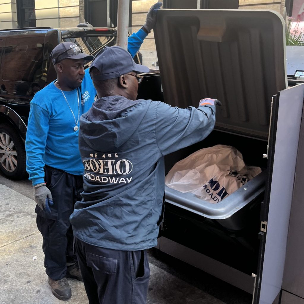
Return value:
M 156 21 L 156 3 L 143 28 L 128 39 L 132 57 Z M 33 181 L 37 203 L 37 227 L 43 236 L 44 266 L 53 294 L 69 299 L 66 277 L 82 281 L 73 253 L 73 232 L 69 216 L 83 191 L 83 166 L 78 149 L 80 116 L 94 102 L 96 90 L 82 53 L 75 44 L 64 42 L 51 54 L 57 80 L 37 92 L 30 105 L 26 135 L 26 165 Z

